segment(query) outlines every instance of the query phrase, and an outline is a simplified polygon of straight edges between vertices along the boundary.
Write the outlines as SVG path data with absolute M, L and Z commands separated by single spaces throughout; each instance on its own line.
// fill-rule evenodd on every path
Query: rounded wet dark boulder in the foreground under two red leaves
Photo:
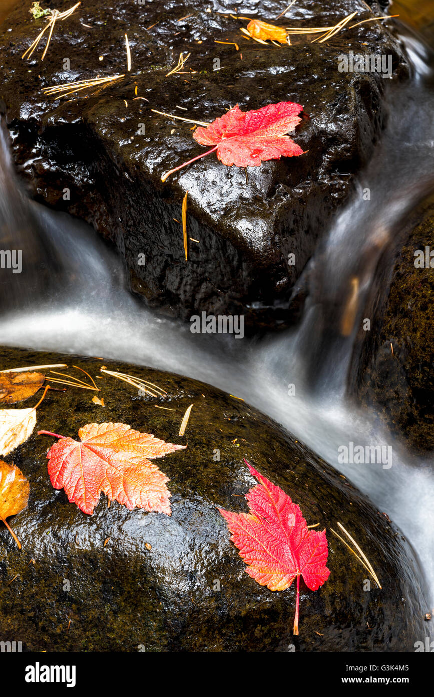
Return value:
M 49 391 L 32 436 L 5 458 L 28 477 L 30 500 L 9 521 L 22 551 L 0 526 L 1 641 L 48 651 L 412 651 L 424 641 L 430 607 L 408 542 L 346 477 L 278 424 L 182 376 L 104 361 L 161 385 L 168 396 L 156 400 L 115 378 L 98 379 L 103 362 L 96 358 L 1 353 L 2 369 L 53 362 L 95 376 L 106 406 L 93 404 L 90 391 Z M 77 438 L 83 424 L 104 421 L 187 445 L 159 461 L 170 477 L 172 516 L 107 507 L 104 496 L 87 516 L 51 487 L 46 453 L 53 439 L 36 431 Z M 299 636 L 291 634 L 295 588 L 271 592 L 253 581 L 216 510 L 248 510 L 243 495 L 254 480 L 243 457 L 290 494 L 309 525 L 327 530 L 330 579 L 317 592 L 301 581 Z M 373 581 L 364 590 L 369 574 L 331 533 L 337 521 L 362 546 L 382 590 Z

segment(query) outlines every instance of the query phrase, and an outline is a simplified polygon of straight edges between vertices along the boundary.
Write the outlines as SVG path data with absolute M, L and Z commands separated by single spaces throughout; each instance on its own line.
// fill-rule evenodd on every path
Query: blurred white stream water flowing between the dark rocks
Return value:
M 26 199 L 13 176 L 3 133 L 0 245 L 23 250 L 23 270 L 0 277 L 0 344 L 136 362 L 243 397 L 284 424 L 387 513 L 417 550 L 434 588 L 434 463 L 410 456 L 389 433 L 378 431 L 372 415 L 348 401 L 355 329 L 341 330 L 349 289 L 355 320 L 350 325 L 355 327 L 385 245 L 421 195 L 434 187 L 430 56 L 409 31 L 402 38 L 412 79 L 394 90 L 387 129 L 357 181 L 353 201 L 305 270 L 310 296 L 296 328 L 241 341 L 192 334 L 189 325 L 146 309 L 127 290 L 120 259 L 97 233 Z M 366 187 L 370 201 L 362 197 Z M 289 385 L 295 386 L 295 395 L 289 395 Z M 392 445 L 392 467 L 339 464 L 338 448 L 350 441 Z

